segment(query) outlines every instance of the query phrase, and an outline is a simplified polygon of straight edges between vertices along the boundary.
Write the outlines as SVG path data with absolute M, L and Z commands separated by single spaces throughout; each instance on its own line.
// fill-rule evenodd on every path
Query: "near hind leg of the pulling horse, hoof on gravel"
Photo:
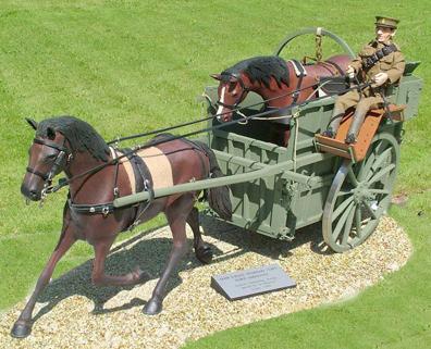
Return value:
M 168 263 L 164 266 L 163 273 L 157 283 L 155 290 L 152 291 L 151 299 L 144 307 L 144 313 L 148 315 L 156 315 L 161 312 L 164 292 L 169 277 L 177 266 L 178 262 L 187 252 L 187 236 L 186 236 L 186 217 L 178 215 L 173 217 L 174 214 L 167 214 L 169 225 L 173 235 L 173 247 L 168 259 Z

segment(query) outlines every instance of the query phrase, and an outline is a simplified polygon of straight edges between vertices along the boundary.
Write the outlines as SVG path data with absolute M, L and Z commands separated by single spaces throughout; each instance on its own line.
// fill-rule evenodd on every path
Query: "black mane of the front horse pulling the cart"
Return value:
M 48 137 L 49 127 L 67 139 L 72 151 L 88 151 L 95 159 L 108 161 L 110 154 L 108 145 L 85 121 L 67 115 L 46 119 L 37 125 L 36 136 Z

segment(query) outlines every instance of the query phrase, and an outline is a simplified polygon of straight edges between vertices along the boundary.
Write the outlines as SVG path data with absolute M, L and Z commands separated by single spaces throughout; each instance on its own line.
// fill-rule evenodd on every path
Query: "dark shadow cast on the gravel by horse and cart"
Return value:
M 233 253 L 224 253 L 216 246 L 209 244 L 214 253 L 214 258 L 217 258 L 212 263 L 233 259 L 249 251 L 266 255 L 276 261 L 280 258 L 288 258 L 292 254 L 290 251 L 291 249 L 304 244 L 311 242 L 311 249 L 319 252 L 319 248 L 317 247 L 322 242 L 321 232 L 317 225 L 298 230 L 297 237 L 292 242 L 275 240 L 256 233 L 250 233 L 208 216 L 204 216 L 201 219 L 201 226 L 205 235 L 235 246 Z M 125 274 L 136 266 L 139 266 L 149 275 L 149 279 L 146 282 L 158 278 L 171 250 L 172 240 L 171 238 L 164 237 L 140 240 L 147 234 L 149 234 L 149 232 L 143 232 L 115 247 L 107 258 L 107 274 Z M 205 235 L 204 240 L 206 237 Z M 133 245 L 134 242 L 136 244 Z M 188 240 L 188 244 L 189 246 L 193 245 L 192 239 Z M 190 249 L 177 266 L 177 270 L 182 272 L 199 267 L 201 263 L 196 259 Z M 38 299 L 38 302 L 47 304 L 39 310 L 35 315 L 34 321 L 37 321 L 45 314 L 49 313 L 59 302 L 72 296 L 84 296 L 91 300 L 95 307 L 93 313 L 95 314 L 110 313 L 146 304 L 146 300 L 134 298 L 128 303 L 111 309 L 103 309 L 104 303 L 111 298 L 122 290 L 133 289 L 134 286 L 94 286 L 91 284 L 91 269 L 93 259 L 59 278 L 53 279 Z M 181 283 L 182 281 L 180 276 L 172 276 L 168 284 L 167 294 L 177 287 Z

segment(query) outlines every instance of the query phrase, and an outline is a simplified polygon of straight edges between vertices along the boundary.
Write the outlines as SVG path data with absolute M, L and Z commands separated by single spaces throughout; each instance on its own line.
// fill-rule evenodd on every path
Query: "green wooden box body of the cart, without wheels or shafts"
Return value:
M 383 120 L 377 133 L 391 135 L 398 142 L 404 121 L 417 114 L 422 87 L 422 80 L 411 75 L 409 68 L 406 71 L 401 84 L 392 87 L 387 95 L 392 103 L 407 105 L 404 117 L 401 121 Z M 213 101 L 218 100 L 217 87 L 207 87 L 205 95 L 211 114 Z M 287 148 L 268 141 L 270 122 L 267 121 L 251 120 L 247 125 L 235 124 L 208 133 L 206 141 L 214 150 L 225 175 L 274 164 L 283 164 L 285 169 L 275 175 L 231 185 L 232 224 L 273 238 L 292 239 L 297 228 L 322 220 L 329 190 L 343 160 L 332 153 L 319 152 L 315 135 L 329 124 L 334 100 L 329 97 L 311 101 L 292 111 L 297 114 Z M 262 107 L 259 101 L 261 98 L 250 92 L 242 103 L 245 107 L 242 112 L 246 115 L 257 113 Z M 247 109 L 247 105 L 255 107 Z M 212 121 L 212 124 L 217 123 Z M 300 184 L 292 179 L 292 173 L 312 180 Z

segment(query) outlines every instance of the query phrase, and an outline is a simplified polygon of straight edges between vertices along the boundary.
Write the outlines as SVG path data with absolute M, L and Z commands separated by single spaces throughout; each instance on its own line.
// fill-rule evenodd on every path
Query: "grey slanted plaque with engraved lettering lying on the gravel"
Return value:
M 211 277 L 211 287 L 229 300 L 243 299 L 295 286 L 295 281 L 279 264 Z

